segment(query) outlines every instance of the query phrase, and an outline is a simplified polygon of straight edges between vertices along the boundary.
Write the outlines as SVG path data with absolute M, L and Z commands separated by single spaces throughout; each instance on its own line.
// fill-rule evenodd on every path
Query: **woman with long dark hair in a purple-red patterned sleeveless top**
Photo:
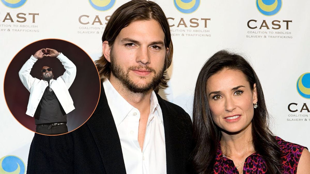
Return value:
M 202 67 L 194 95 L 196 172 L 309 173 L 307 148 L 274 136 L 268 117 L 250 64 L 225 50 L 215 53 Z

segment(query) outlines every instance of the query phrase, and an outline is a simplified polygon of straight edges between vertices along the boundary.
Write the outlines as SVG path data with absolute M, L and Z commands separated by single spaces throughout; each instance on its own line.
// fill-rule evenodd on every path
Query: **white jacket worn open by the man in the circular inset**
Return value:
M 64 65 L 64 69 L 66 70 L 64 74 L 58 77 L 56 80 L 50 80 L 50 88 L 53 89 L 56 97 L 58 98 L 61 106 L 63 107 L 66 114 L 73 111 L 73 100 L 69 94 L 68 89 L 72 85 L 77 68 L 64 54 L 60 53 L 57 56 L 57 59 L 60 60 L 62 65 Z M 33 117 L 38 104 L 43 96 L 44 90 L 48 86 L 48 82 L 45 80 L 39 80 L 30 75 L 31 68 L 34 63 L 37 62 L 37 58 L 33 57 L 33 55 L 26 61 L 23 67 L 19 71 L 19 77 L 23 85 L 30 92 L 29 102 L 27 106 L 26 114 Z

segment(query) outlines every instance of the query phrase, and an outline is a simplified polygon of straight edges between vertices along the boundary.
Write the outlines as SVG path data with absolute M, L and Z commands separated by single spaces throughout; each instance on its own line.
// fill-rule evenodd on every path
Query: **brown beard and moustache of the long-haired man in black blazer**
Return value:
M 122 82 L 123 85 L 126 86 L 127 89 L 129 89 L 131 92 L 134 93 L 145 93 L 148 92 L 151 89 L 155 89 L 157 85 L 159 85 L 162 76 L 164 75 L 164 67 L 160 69 L 160 71 L 157 73 L 153 68 L 148 67 L 148 65 L 139 65 L 139 66 L 131 66 L 128 67 L 127 72 L 125 72 L 122 67 L 115 62 L 115 59 L 113 57 L 111 50 L 110 54 L 110 60 L 111 60 L 111 72 L 112 74 Z M 146 69 L 147 71 L 153 72 L 154 76 L 151 81 L 149 81 L 145 85 L 137 85 L 135 82 L 133 82 L 129 77 L 129 72 L 131 70 L 136 69 Z M 145 77 L 139 77 L 140 79 L 145 79 Z

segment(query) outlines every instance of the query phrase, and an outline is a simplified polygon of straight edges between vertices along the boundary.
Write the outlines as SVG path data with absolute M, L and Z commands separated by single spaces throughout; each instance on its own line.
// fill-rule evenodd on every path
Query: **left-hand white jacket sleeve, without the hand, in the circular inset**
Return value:
M 28 89 L 30 92 L 30 88 L 32 87 L 34 80 L 33 76 L 30 75 L 31 68 L 33 67 L 34 63 L 37 62 L 37 58 L 33 57 L 33 55 L 26 61 L 26 63 L 21 67 L 18 75 L 20 77 L 21 82 L 23 85 Z

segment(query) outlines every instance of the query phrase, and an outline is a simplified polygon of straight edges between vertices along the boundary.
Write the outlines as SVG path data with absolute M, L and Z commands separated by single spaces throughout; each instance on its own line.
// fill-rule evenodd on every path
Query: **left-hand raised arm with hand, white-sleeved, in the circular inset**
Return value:
M 26 61 L 26 63 L 23 65 L 23 67 L 21 67 L 20 71 L 18 72 L 21 82 L 28 89 L 29 92 L 30 88 L 32 87 L 36 79 L 30 75 L 31 68 L 33 67 L 34 63 L 37 62 L 38 59 L 42 59 L 43 57 L 47 56 L 46 54 L 44 54 L 46 52 L 47 50 L 44 48 L 38 50 Z

